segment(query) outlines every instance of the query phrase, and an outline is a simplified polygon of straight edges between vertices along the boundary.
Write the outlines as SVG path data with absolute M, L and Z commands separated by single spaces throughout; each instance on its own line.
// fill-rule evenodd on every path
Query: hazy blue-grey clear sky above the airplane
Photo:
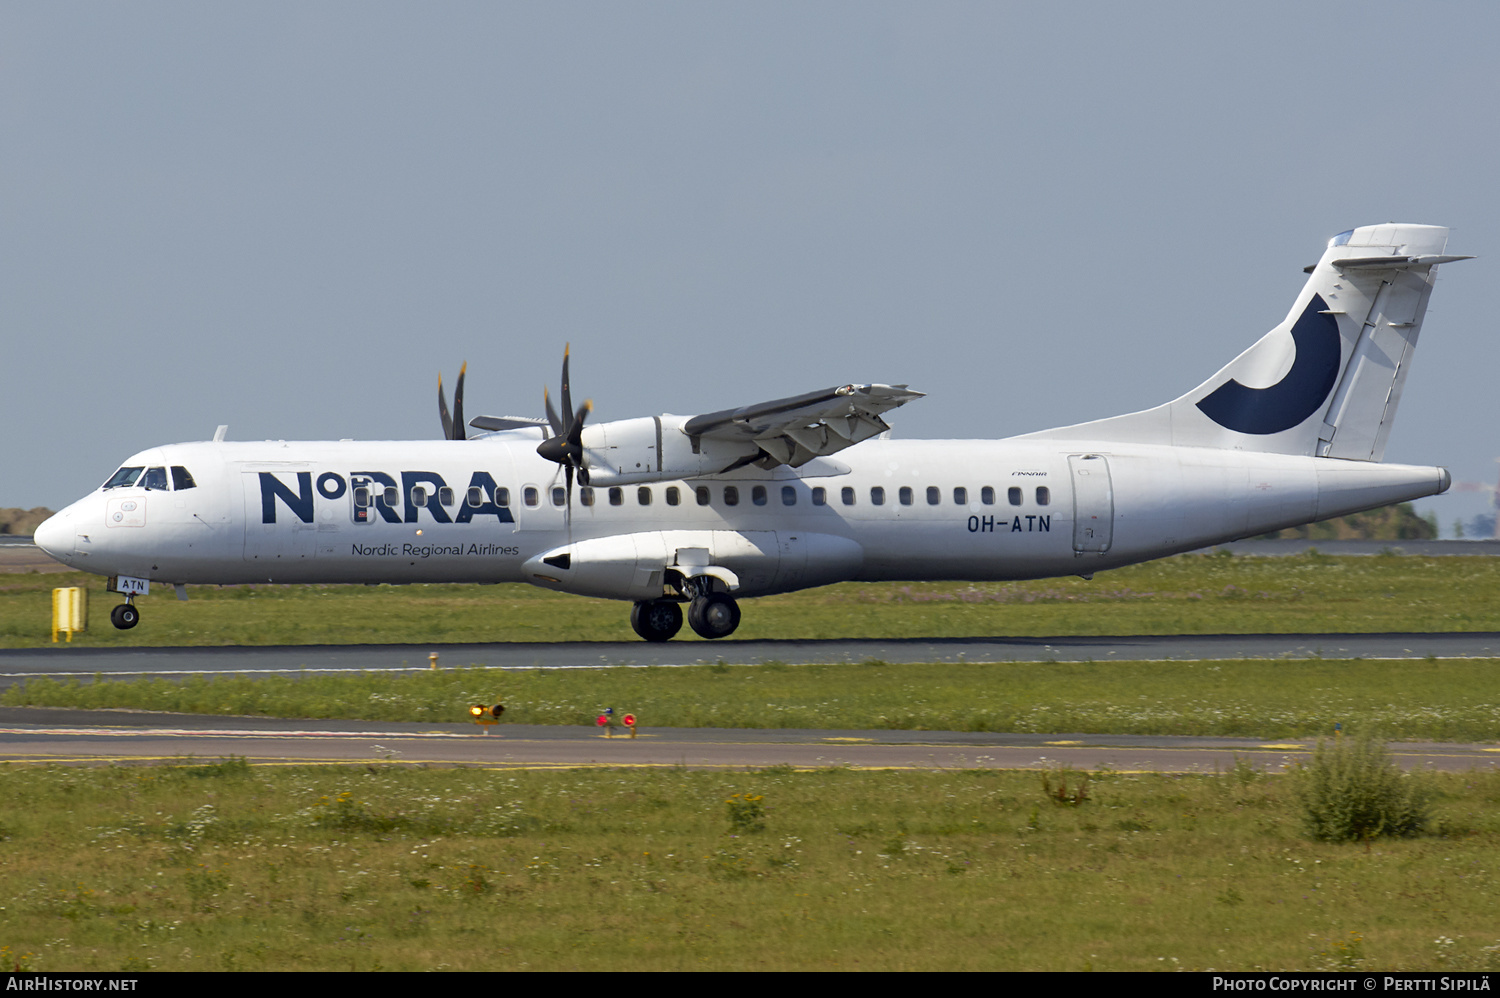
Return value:
M 0 2 L 0 506 L 130 453 L 844 383 L 1156 405 L 1452 227 L 1386 461 L 1492 485 L 1494 3 Z M 1424 500 L 1450 533 L 1484 491 Z

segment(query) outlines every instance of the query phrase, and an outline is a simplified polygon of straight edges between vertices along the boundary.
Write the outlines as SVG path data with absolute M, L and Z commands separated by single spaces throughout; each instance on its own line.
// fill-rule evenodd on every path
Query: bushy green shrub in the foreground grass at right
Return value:
M 1310 836 L 1318 842 L 1407 837 L 1426 827 L 1432 791 L 1401 771 L 1374 734 L 1318 740 L 1298 774 L 1298 798 Z

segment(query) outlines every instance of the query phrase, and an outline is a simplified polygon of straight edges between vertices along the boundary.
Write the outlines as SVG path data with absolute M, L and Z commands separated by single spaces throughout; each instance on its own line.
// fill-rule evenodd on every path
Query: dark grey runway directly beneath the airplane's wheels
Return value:
M 1488 659 L 1500 633 L 1126 635 L 830 641 L 578 641 L 234 648 L 16 648 L 0 651 L 0 689 L 24 678 L 134 678 L 234 672 L 362 672 L 429 668 L 576 669 L 608 665 L 786 662 L 1214 662 L 1226 659 Z

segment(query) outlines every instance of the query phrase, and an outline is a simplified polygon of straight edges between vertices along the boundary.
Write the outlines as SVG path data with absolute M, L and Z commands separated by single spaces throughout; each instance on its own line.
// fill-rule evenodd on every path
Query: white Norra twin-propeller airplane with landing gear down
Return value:
M 903 384 L 844 384 L 698 416 L 464 422 L 444 440 L 152 447 L 36 530 L 150 585 L 530 582 L 633 603 L 646 641 L 738 627 L 740 600 L 844 581 L 1095 572 L 1443 492 L 1382 464 L 1449 230 L 1328 242 L 1287 317 L 1178 399 L 1004 440 L 891 440 Z M 477 432 L 471 432 L 477 431 Z

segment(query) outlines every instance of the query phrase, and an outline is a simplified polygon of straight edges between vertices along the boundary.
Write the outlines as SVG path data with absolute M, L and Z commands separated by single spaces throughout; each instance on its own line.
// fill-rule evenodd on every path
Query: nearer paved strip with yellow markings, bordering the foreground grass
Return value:
M 236 756 L 252 765 L 470 765 L 483 768 L 684 767 L 960 770 L 1112 768 L 1192 773 L 1238 759 L 1280 771 L 1305 758 L 1306 738 L 1040 735 L 956 731 L 790 731 L 663 728 L 630 738 L 596 728 L 364 720 L 278 720 L 51 707 L 0 708 L 0 762 L 178 764 Z M 1500 765 L 1500 747 L 1394 743 L 1408 768 Z

